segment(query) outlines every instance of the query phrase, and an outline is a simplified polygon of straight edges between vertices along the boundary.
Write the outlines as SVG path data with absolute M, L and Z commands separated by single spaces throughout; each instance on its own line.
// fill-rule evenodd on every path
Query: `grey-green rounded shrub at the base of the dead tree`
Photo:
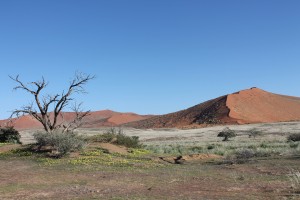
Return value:
M 75 133 L 62 132 L 37 132 L 34 135 L 39 149 L 42 147 L 51 147 L 52 153 L 55 156 L 61 157 L 72 151 L 81 150 L 85 146 L 85 141 L 82 137 Z

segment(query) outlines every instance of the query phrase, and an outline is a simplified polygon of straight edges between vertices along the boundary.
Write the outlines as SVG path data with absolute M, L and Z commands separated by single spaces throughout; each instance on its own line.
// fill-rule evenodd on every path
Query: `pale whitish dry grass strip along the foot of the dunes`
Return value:
M 186 143 L 202 141 L 215 141 L 217 134 L 225 126 L 214 126 L 200 129 L 133 129 L 124 128 L 124 133 L 129 136 L 139 136 L 140 141 L 144 144 L 162 144 L 162 143 Z M 290 133 L 300 132 L 300 122 L 281 122 L 268 124 L 247 124 L 247 125 L 228 125 L 230 129 L 236 131 L 239 135 L 248 135 L 247 131 L 257 129 L 262 134 L 272 137 L 272 135 L 286 136 Z M 78 129 L 77 132 L 84 135 L 94 135 L 103 133 L 109 128 L 84 128 Z M 24 144 L 32 143 L 33 133 L 38 130 L 22 130 L 21 141 Z

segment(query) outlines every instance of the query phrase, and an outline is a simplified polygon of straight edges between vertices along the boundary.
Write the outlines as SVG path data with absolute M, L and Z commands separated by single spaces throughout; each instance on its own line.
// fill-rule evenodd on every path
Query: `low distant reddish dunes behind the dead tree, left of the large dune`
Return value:
M 50 114 L 51 116 L 51 114 Z M 73 112 L 64 112 L 64 120 L 70 122 L 75 117 Z M 86 118 L 84 118 L 83 127 L 97 128 L 103 126 L 119 126 L 124 123 L 133 122 L 137 120 L 144 120 L 153 115 L 138 115 L 135 113 L 120 113 L 111 110 L 102 110 L 91 112 Z M 62 121 L 59 118 L 58 123 Z M 0 120 L 0 125 L 5 126 L 9 120 Z M 42 128 L 42 125 L 33 117 L 25 115 L 19 118 L 12 119 L 12 123 L 16 129 L 36 129 Z

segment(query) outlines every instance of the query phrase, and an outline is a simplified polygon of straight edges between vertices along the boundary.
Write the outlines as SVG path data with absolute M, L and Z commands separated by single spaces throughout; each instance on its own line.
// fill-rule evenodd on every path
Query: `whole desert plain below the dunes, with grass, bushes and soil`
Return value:
M 183 130 L 157 130 L 147 139 L 143 130 L 80 129 L 71 138 L 84 144 L 63 156 L 53 156 L 63 152 L 59 141 L 77 142 L 62 133 L 47 138 L 39 132 L 35 143 L 24 145 L 0 143 L 1 197 L 298 199 L 300 149 L 298 141 L 289 140 L 293 133 L 258 128 L 259 134 L 249 137 L 252 127 L 238 127 L 230 127 L 236 137 L 226 142 L 217 137 L 220 128 L 199 129 L 204 132 L 198 140 L 168 136 L 187 133 Z M 141 137 L 134 137 L 138 131 Z M 197 136 L 197 130 L 190 132 Z

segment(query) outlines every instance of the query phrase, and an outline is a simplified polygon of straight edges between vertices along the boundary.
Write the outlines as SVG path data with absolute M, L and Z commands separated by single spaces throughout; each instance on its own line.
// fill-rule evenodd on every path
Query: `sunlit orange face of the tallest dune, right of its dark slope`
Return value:
M 228 95 L 226 106 L 239 124 L 300 120 L 300 98 L 258 88 Z

